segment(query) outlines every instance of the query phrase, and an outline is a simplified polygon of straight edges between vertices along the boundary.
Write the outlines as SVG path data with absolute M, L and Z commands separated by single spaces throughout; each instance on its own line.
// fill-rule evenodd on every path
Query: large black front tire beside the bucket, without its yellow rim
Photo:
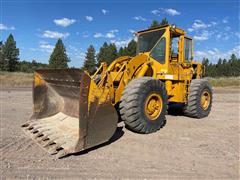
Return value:
M 144 110 L 145 101 L 151 93 L 162 99 L 162 110 L 155 120 L 150 120 Z M 167 93 L 164 83 L 152 77 L 131 80 L 122 93 L 119 109 L 128 129 L 143 134 L 159 130 L 166 123 Z

